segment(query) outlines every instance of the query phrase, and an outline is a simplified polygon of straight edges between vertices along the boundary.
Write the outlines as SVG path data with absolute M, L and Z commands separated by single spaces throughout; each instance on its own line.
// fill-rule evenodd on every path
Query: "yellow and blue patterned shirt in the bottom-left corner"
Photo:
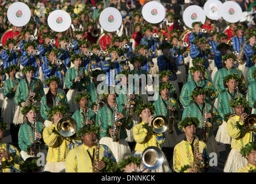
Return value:
M 21 159 L 21 155 L 20 155 L 20 151 L 18 151 L 18 149 L 16 147 L 14 147 L 13 145 L 10 145 L 10 144 L 4 144 L 4 143 L 1 143 L 0 144 L 0 149 L 4 149 L 5 151 L 8 152 L 8 154 L 13 154 L 13 155 L 16 155 L 18 156 L 20 159 Z M 12 162 L 13 160 L 13 157 L 10 155 L 10 160 L 8 160 L 8 162 Z M 5 162 L 6 159 L 5 158 L 2 158 L 2 164 L 3 162 Z M 22 163 L 23 161 L 20 161 L 19 163 L 14 163 L 13 166 L 5 166 L 5 164 L 3 164 L 2 166 L 2 172 L 3 173 L 14 173 L 14 170 L 16 172 L 20 172 L 20 164 Z M 1 170 L 1 168 L 0 168 Z

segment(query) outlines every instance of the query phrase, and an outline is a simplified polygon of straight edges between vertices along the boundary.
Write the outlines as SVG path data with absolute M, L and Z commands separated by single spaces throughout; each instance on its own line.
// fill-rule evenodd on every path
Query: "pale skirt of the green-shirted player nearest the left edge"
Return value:
M 16 105 L 14 104 L 14 98 L 5 98 L 2 106 L 1 116 L 3 118 L 3 122 L 7 125 L 13 123 L 13 117 L 15 113 Z

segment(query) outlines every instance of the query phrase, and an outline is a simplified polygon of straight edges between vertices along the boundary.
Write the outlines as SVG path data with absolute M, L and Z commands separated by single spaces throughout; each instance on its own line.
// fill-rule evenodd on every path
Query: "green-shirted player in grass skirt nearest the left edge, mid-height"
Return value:
M 9 79 L 3 83 L 3 93 L 5 94 L 5 101 L 3 101 L 2 113 L 1 116 L 3 118 L 3 122 L 10 124 L 10 132 L 12 136 L 12 142 L 18 143 L 18 129 L 19 125 L 14 126 L 13 117 L 15 113 L 16 105 L 14 104 L 14 94 L 16 92 L 18 82 L 20 79 L 16 78 L 16 72 L 19 71 L 20 68 L 16 65 L 10 65 L 5 68 L 6 74 L 9 75 Z

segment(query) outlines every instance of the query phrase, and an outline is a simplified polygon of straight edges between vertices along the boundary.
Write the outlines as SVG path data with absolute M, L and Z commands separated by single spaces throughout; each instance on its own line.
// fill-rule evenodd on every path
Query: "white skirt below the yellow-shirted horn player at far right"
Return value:
M 247 165 L 247 159 L 240 154 L 240 150 L 231 149 L 225 163 L 224 173 L 236 173 L 239 168 Z

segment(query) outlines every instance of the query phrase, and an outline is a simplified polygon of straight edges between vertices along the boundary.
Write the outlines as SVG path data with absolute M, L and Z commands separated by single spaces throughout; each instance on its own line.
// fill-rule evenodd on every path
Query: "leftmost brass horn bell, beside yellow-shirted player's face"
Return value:
M 72 117 L 64 116 L 58 122 L 57 131 L 63 137 L 70 137 L 77 132 L 77 122 Z

